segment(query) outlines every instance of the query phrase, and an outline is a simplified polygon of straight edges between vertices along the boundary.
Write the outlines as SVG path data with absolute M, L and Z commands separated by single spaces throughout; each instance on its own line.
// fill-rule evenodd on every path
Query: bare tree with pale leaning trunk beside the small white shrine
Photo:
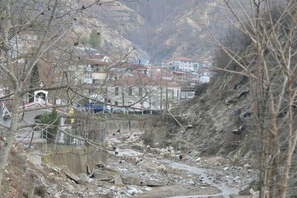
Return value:
M 77 79 L 82 78 L 82 72 L 73 69 L 79 67 L 75 47 L 80 44 L 81 38 L 77 28 L 92 26 L 89 20 L 92 10 L 114 1 L 117 0 L 0 2 L 0 72 L 4 76 L 0 84 L 9 87 L 10 91 L 1 99 L 10 97 L 11 101 L 9 127 L 1 126 L 7 132 L 4 146 L 0 149 L 0 186 L 15 135 L 25 127 L 19 126 L 19 119 L 22 119 L 19 115 L 27 110 L 20 110 L 20 105 L 26 102 L 26 94 L 40 89 L 29 88 L 33 67 L 38 64 L 42 68 L 41 82 L 47 85 L 43 89 L 50 91 L 52 98 L 62 95 L 69 101 L 64 106 L 73 105 L 74 100 L 81 99 L 84 94 L 79 90 L 84 84 L 78 84 Z

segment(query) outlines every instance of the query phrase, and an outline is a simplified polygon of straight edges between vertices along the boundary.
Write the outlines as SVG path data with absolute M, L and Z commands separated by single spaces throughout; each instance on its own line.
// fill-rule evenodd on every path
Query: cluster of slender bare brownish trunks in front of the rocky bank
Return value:
M 297 1 L 234 2 L 240 10 L 225 0 L 234 16 L 230 23 L 250 40 L 244 53 L 223 45 L 204 26 L 231 60 L 216 69 L 249 79 L 254 129 L 261 140 L 259 198 L 286 198 L 288 182 L 296 178 L 290 170 L 297 144 Z M 230 64 L 239 69 L 231 70 Z

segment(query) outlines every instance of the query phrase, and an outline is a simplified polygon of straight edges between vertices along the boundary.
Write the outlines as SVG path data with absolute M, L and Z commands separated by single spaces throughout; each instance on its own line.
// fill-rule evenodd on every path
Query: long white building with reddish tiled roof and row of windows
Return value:
M 177 104 L 182 86 L 171 80 L 137 73 L 108 82 L 108 100 L 113 105 L 164 109 Z

